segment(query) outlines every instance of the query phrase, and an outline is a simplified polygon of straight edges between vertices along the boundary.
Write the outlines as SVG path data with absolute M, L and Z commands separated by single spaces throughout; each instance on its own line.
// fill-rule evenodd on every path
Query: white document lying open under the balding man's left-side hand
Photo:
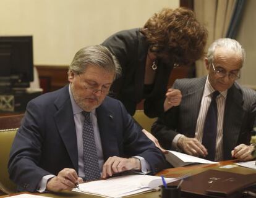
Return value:
M 182 152 L 177 151 L 168 151 L 168 154 L 165 154 L 165 157 L 166 160 L 174 167 L 184 167 L 191 163 L 218 163 L 210 160 L 205 160 L 200 157 L 183 154 Z

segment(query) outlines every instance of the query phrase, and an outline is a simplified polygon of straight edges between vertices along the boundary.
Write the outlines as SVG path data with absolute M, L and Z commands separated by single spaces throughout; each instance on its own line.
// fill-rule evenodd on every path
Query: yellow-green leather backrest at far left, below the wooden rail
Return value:
M 16 189 L 15 184 L 9 179 L 7 168 L 10 149 L 16 132 L 17 129 L 0 130 L 0 190 L 6 194 L 14 193 Z

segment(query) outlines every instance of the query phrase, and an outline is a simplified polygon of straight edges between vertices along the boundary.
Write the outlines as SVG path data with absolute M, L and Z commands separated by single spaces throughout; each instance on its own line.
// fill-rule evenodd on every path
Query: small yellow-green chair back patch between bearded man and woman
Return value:
M 156 121 L 156 118 L 149 118 L 143 110 L 136 110 L 134 119 L 148 132 L 151 132 L 151 126 Z

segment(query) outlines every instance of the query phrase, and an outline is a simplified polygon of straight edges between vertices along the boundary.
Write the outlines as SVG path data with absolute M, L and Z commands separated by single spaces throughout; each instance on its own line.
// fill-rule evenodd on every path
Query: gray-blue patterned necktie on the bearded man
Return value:
M 96 151 L 93 125 L 89 112 L 82 112 L 85 120 L 83 122 L 83 165 L 85 171 L 85 181 L 100 178 L 100 167 Z

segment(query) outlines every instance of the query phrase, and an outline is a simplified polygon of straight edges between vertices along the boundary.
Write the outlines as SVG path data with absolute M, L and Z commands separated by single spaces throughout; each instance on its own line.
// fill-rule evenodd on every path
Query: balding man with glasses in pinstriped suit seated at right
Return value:
M 236 82 L 244 58 L 244 49 L 237 41 L 218 39 L 211 44 L 205 58 L 208 76 L 174 82 L 173 87 L 182 93 L 181 104 L 158 118 L 152 127 L 164 149 L 206 158 L 212 152 L 211 160 L 216 161 L 232 157 L 253 159 L 251 153 L 255 147 L 249 142 L 255 126 L 256 94 Z M 215 92 L 218 96 L 213 101 Z M 214 106 L 211 102 L 218 113 L 215 126 L 207 125 L 214 120 L 208 117 L 208 109 Z

